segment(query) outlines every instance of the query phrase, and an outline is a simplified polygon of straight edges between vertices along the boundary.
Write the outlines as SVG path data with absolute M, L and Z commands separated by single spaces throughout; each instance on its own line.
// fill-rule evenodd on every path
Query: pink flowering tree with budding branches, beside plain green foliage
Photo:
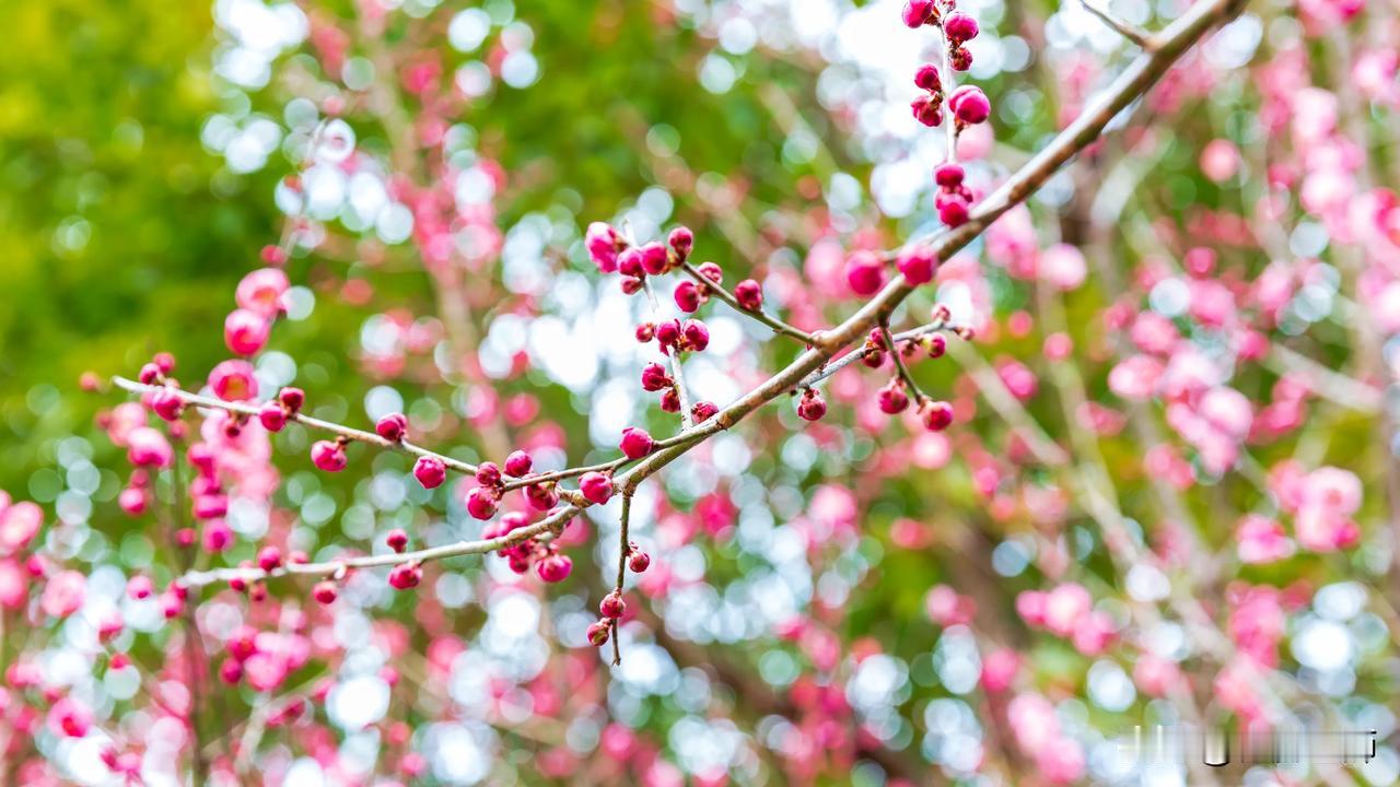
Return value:
M 1393 4 L 353 6 L 216 4 L 283 225 L 0 494 L 0 783 L 1400 777 Z

